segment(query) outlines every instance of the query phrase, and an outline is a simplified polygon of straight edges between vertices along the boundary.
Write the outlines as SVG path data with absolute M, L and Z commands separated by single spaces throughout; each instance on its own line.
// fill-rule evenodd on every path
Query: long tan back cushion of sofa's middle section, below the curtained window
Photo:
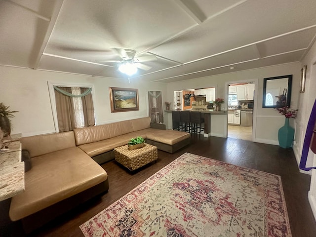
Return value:
M 130 120 L 74 129 L 77 146 L 102 141 L 132 131 Z

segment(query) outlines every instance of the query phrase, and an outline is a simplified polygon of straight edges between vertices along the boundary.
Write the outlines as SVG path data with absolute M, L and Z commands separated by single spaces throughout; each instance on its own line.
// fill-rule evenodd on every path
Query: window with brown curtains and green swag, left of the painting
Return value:
M 49 90 L 57 132 L 95 125 L 92 86 L 56 86 L 49 83 Z

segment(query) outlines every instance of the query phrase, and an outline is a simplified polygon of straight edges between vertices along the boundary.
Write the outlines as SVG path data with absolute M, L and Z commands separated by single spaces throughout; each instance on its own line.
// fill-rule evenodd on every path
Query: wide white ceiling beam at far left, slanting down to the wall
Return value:
M 52 11 L 52 16 L 51 16 L 51 20 L 49 22 L 49 25 L 47 27 L 47 30 L 46 30 L 46 33 L 45 33 L 45 37 L 44 37 L 44 40 L 42 41 L 41 45 L 40 45 L 40 51 L 38 52 L 38 55 L 36 57 L 36 60 L 35 60 L 35 63 L 34 63 L 34 69 L 38 69 L 39 65 L 40 65 L 40 59 L 41 59 L 41 56 L 47 46 L 47 43 L 48 43 L 48 40 L 50 38 L 50 35 L 55 27 L 55 24 L 56 24 L 56 21 L 58 19 L 58 15 L 60 13 L 60 10 L 62 8 L 62 5 L 64 3 L 64 0 L 59 0 L 58 2 L 59 4 L 55 4 L 55 7 Z

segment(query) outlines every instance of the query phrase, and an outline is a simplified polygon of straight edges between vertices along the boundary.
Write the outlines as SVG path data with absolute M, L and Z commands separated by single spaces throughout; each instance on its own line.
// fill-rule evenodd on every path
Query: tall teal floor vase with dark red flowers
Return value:
M 275 110 L 285 116 L 284 126 L 280 127 L 277 133 L 279 146 L 281 148 L 290 148 L 294 139 L 294 128 L 289 125 L 289 118 L 295 118 L 298 110 L 293 110 L 288 106 L 275 108 Z

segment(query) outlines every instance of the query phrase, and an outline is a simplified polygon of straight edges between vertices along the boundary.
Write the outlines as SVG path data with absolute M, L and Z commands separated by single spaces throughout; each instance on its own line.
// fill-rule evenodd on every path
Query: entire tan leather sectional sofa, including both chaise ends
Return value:
M 22 219 L 31 232 L 107 191 L 108 175 L 98 163 L 113 159 L 113 149 L 136 136 L 169 153 L 190 143 L 189 133 L 151 128 L 149 117 L 22 138 L 32 169 L 25 173 L 25 192 L 12 197 L 11 220 Z

